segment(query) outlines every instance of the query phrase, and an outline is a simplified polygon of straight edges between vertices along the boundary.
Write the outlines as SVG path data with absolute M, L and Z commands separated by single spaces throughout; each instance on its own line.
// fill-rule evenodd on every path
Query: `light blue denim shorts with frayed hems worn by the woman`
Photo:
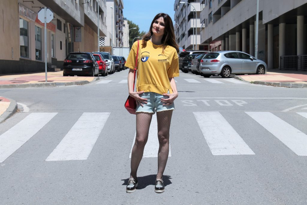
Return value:
M 174 102 L 170 105 L 163 105 L 163 102 L 161 102 L 161 98 L 167 99 L 169 98 L 168 96 L 163 96 L 153 92 L 145 92 L 140 94 L 140 97 L 146 98 L 147 104 L 143 103 L 143 107 L 137 104 L 136 112 L 150 112 L 154 114 L 155 112 L 175 109 Z

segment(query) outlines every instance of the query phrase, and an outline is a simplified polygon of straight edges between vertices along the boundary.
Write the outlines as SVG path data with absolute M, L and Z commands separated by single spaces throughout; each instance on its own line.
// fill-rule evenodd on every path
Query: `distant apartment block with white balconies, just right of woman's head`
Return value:
M 175 0 L 174 11 L 174 29 L 179 47 L 207 50 L 208 45 L 200 42 L 200 0 Z

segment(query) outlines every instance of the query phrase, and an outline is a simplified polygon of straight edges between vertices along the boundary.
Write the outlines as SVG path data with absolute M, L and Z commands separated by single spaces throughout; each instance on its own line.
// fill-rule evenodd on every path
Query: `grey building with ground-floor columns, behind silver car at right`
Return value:
M 256 0 L 201 0 L 200 5 L 202 44 L 209 44 L 211 51 L 255 56 Z M 307 0 L 259 0 L 258 6 L 258 58 L 269 69 L 306 66 Z

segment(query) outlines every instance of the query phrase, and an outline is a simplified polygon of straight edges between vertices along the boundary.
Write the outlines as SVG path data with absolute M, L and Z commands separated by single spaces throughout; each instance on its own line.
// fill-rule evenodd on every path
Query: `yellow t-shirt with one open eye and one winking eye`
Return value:
M 125 66 L 133 69 L 138 48 L 138 41 L 134 42 Z M 166 46 L 162 53 L 162 45 L 155 45 L 147 41 L 145 47 L 140 41 L 137 65 L 137 91 L 154 93 L 173 93 L 169 78 L 179 76 L 179 61 L 177 51 L 172 46 Z

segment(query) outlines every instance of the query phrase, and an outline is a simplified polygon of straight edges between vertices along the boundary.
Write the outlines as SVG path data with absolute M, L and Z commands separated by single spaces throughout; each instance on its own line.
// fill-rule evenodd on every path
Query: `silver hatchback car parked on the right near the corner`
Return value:
M 231 74 L 265 74 L 265 62 L 239 51 L 217 51 L 207 53 L 200 61 L 200 72 L 204 77 L 219 74 L 229 77 Z

